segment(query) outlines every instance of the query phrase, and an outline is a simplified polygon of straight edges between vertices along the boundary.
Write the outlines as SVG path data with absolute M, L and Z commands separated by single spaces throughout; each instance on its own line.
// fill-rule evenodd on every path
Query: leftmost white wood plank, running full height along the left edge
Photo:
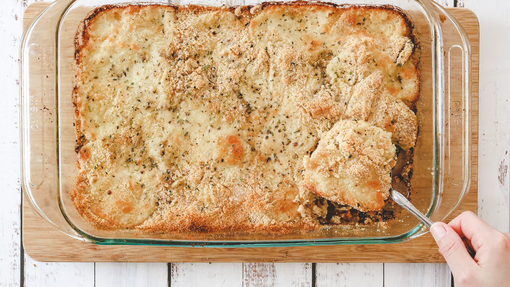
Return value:
M 2 207 L 0 208 L 0 286 L 19 286 L 21 283 L 21 190 L 19 160 L 19 41 L 21 38 L 22 4 L 2 3 L 0 9 L 0 165 Z

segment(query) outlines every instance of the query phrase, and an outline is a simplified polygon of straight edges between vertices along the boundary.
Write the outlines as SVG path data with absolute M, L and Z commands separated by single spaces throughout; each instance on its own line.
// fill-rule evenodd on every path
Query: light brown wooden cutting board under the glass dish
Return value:
M 23 27 L 47 3 L 34 3 L 25 10 Z M 448 9 L 464 26 L 472 53 L 472 151 L 471 187 L 460 209 L 477 209 L 478 188 L 478 19 L 468 9 Z M 398 244 L 336 245 L 314 247 L 203 248 L 162 246 L 104 246 L 75 240 L 39 217 L 23 198 L 23 248 L 42 262 L 445 262 L 430 233 Z

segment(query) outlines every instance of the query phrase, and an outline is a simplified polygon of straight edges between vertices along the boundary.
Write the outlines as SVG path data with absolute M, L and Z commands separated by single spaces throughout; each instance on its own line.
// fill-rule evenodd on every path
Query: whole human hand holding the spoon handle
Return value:
M 450 223 L 436 222 L 432 236 L 450 266 L 455 286 L 510 284 L 510 234 L 502 233 L 472 212 Z M 471 258 L 465 243 L 476 252 Z

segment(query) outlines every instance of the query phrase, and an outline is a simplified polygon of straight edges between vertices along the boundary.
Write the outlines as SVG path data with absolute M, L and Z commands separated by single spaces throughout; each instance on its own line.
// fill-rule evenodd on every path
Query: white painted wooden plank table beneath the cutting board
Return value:
M 446 264 L 315 263 L 40 263 L 21 246 L 19 43 L 33 0 L 3 0 L 0 9 L 0 286 L 450 286 Z M 348 1 L 346 1 L 348 2 Z M 478 215 L 508 232 L 510 141 L 510 2 L 442 0 L 480 23 Z

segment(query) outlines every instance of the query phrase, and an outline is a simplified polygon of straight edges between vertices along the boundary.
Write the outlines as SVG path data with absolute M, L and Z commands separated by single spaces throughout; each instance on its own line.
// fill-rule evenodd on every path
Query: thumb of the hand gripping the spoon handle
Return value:
M 471 272 L 476 263 L 466 250 L 466 246 L 457 232 L 448 224 L 436 222 L 430 227 L 430 233 L 439 246 L 453 275 Z

